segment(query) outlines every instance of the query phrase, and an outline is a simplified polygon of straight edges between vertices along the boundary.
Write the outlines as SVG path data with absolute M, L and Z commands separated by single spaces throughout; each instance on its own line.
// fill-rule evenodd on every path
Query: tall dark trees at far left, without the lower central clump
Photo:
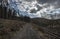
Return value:
M 14 17 L 16 14 L 15 10 L 8 9 L 7 7 L 0 5 L 0 18 L 11 18 Z

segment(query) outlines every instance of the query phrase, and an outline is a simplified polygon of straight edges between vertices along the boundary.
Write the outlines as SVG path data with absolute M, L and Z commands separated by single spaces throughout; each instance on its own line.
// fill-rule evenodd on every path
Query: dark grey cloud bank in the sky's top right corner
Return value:
M 60 0 L 37 0 L 37 2 L 40 4 L 47 3 L 48 5 L 52 5 L 55 8 L 60 8 Z

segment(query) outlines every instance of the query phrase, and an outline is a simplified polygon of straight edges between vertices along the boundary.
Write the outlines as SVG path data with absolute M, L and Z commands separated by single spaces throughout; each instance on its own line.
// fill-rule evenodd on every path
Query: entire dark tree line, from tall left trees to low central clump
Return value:
M 0 5 L 0 18 L 4 19 L 19 19 L 22 21 L 30 22 L 30 18 L 25 16 L 16 16 L 16 11 L 12 9 L 8 9 L 8 7 L 3 6 L 2 4 Z

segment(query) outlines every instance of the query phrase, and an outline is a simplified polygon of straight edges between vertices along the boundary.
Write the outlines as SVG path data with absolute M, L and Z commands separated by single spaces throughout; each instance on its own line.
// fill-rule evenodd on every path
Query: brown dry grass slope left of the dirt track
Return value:
M 12 33 L 22 29 L 24 24 L 22 21 L 0 19 L 0 39 L 9 39 Z

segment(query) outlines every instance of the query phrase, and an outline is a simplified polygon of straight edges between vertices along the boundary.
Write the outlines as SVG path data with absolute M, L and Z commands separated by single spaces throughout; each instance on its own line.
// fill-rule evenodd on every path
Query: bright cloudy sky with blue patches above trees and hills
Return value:
M 52 19 L 52 17 L 54 19 L 59 18 L 60 0 L 8 0 L 8 3 L 10 8 L 16 10 L 17 16 L 23 15 L 30 18 L 43 17 L 47 19 Z

